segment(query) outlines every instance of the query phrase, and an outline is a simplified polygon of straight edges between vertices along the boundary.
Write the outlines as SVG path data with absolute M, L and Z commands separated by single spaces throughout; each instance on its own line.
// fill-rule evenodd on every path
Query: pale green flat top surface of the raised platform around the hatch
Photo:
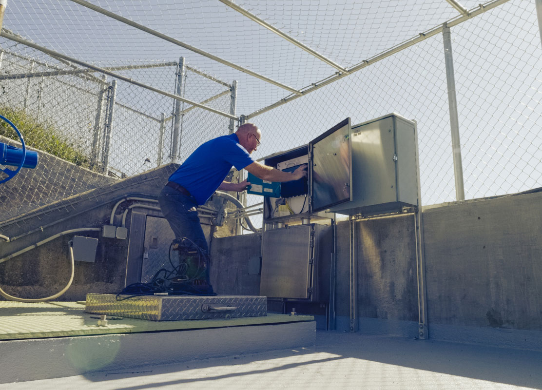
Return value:
M 122 318 L 108 320 L 107 326 L 101 327 L 98 326 L 98 319 L 91 318 L 91 314 L 85 313 L 84 310 L 85 305 L 75 302 L 0 301 L 0 340 L 241 327 L 314 320 L 313 316 L 282 314 L 199 321 L 146 321 Z

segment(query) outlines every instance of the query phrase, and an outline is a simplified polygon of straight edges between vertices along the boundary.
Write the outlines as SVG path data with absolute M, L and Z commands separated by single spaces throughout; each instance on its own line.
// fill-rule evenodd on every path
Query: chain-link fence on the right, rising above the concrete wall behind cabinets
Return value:
M 451 30 L 465 199 L 542 186 L 542 50 L 534 2 L 514 0 Z M 418 124 L 423 204 L 456 200 L 443 34 L 251 118 L 261 155 L 340 120 L 397 112 Z M 257 199 L 253 199 L 256 202 Z

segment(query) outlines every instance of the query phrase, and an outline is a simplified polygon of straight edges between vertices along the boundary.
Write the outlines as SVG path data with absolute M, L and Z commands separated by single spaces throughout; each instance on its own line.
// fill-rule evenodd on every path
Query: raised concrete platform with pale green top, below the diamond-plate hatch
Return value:
M 312 316 L 123 318 L 100 327 L 84 309 L 75 302 L 0 302 L 0 383 L 307 347 L 316 333 Z

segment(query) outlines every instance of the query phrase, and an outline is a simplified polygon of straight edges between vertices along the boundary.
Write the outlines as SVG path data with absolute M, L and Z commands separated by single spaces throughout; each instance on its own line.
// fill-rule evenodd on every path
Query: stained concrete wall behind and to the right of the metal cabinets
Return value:
M 542 349 L 542 193 L 434 206 L 422 215 L 429 337 Z M 359 331 L 417 337 L 414 217 L 359 220 L 354 229 Z M 339 222 L 338 330 L 349 329 L 349 234 L 349 221 Z M 243 293 L 232 281 L 247 276 L 235 248 L 260 250 L 259 240 L 245 237 L 221 239 L 213 251 L 220 268 L 213 272 L 227 278 L 228 293 Z

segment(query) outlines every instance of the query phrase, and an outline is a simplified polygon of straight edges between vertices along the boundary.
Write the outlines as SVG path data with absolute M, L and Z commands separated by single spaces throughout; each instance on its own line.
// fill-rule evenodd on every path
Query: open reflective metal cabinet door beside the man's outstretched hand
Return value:
M 352 145 L 350 118 L 309 142 L 312 212 L 352 199 Z

